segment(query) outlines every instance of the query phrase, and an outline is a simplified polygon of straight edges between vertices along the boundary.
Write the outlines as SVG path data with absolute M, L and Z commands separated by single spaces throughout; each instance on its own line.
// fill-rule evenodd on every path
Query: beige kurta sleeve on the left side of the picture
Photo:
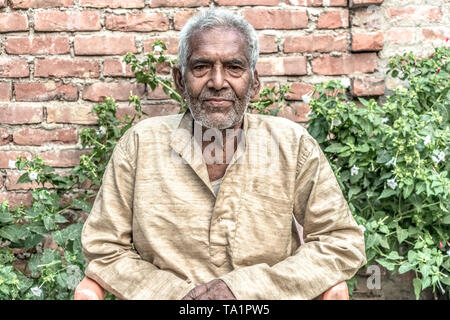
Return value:
M 115 147 L 83 227 L 85 273 L 120 299 L 181 299 L 193 285 L 143 260 L 132 245 L 136 150 L 131 131 Z

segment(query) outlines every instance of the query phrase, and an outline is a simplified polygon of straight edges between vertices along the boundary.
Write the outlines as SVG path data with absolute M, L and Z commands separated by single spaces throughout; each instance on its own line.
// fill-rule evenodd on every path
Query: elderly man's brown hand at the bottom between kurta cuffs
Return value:
M 196 286 L 182 300 L 236 300 L 230 288 L 220 279 Z

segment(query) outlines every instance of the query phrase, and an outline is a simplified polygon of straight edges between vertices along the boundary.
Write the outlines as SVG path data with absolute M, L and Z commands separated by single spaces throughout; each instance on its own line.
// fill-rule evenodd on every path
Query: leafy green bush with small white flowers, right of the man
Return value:
M 391 58 L 388 73 L 406 83 L 382 105 L 357 105 L 336 81 L 310 102 L 308 130 L 365 231 L 368 264 L 413 270 L 417 299 L 428 287 L 449 294 L 449 53 Z

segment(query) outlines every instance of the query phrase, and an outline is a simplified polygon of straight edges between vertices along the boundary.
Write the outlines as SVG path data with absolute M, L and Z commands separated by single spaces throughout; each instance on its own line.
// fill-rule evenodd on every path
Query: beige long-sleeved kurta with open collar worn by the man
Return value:
M 83 228 L 86 275 L 120 299 L 215 278 L 237 299 L 312 299 L 351 278 L 364 237 L 317 142 L 279 117 L 246 113 L 243 129 L 216 196 L 189 111 L 130 128 Z

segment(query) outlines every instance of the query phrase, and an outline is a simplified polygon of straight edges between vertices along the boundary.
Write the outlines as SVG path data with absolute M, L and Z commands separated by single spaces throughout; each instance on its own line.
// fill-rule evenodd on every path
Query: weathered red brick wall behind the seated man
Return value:
M 65 172 L 83 153 L 78 137 L 102 96 L 129 111 L 130 91 L 151 116 L 177 113 L 162 90 L 148 92 L 121 61 L 155 39 L 176 54 L 177 33 L 200 7 L 243 15 L 260 37 L 264 83 L 290 83 L 301 96 L 312 84 L 349 78 L 355 96 L 382 96 L 398 85 L 384 77 L 389 56 L 428 53 L 450 36 L 449 0 L 0 0 L 0 201 L 31 202 L 8 167 L 19 155 L 43 157 Z M 167 70 L 161 70 L 169 76 Z

